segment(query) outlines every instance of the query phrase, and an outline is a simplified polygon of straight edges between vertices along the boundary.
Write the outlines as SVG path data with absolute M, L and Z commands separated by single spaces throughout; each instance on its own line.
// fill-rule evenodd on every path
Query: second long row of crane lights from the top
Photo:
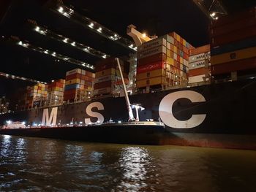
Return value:
M 34 31 L 37 31 L 39 34 L 43 34 L 46 35 L 48 32 L 48 37 L 51 37 L 53 39 L 56 39 L 60 42 L 64 42 L 66 44 L 70 44 L 72 45 L 72 47 L 76 47 L 80 50 L 85 51 L 86 53 L 89 53 L 91 55 L 97 56 L 99 58 L 108 58 L 110 57 L 110 55 L 106 54 L 106 53 L 102 53 L 99 50 L 95 50 L 92 47 L 80 44 L 78 42 L 73 41 L 72 39 L 69 39 L 67 37 L 63 37 L 60 34 L 56 34 L 53 31 L 48 31 L 47 29 L 43 28 L 42 26 L 35 26 Z

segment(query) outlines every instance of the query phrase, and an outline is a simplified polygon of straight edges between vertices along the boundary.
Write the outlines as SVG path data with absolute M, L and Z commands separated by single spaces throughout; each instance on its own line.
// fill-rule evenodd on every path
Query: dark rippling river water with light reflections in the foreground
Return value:
M 0 135 L 0 191 L 256 191 L 256 151 Z

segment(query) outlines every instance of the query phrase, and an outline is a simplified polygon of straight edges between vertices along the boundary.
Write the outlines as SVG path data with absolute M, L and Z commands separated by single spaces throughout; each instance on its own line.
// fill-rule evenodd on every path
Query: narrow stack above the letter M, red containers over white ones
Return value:
M 63 104 L 65 80 L 55 80 L 48 83 L 47 105 Z

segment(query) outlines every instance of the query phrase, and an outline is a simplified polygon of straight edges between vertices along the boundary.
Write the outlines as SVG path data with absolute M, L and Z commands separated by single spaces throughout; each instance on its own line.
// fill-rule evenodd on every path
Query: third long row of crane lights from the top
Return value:
M 61 55 L 61 54 L 59 54 L 59 53 L 56 53 L 56 52 L 53 52 L 53 51 L 50 51 L 50 50 L 43 49 L 43 48 L 41 48 L 41 47 L 35 47 L 35 46 L 33 46 L 33 45 L 30 45 L 30 44 L 27 43 L 27 42 L 24 43 L 24 42 L 22 42 L 22 41 L 19 41 L 19 42 L 18 42 L 18 45 L 20 45 L 20 46 L 22 46 L 22 47 L 26 47 L 26 48 L 31 49 L 31 50 L 35 50 L 35 51 L 37 51 L 37 52 L 39 52 L 39 53 L 45 53 L 46 55 L 51 55 L 51 56 L 56 57 L 56 58 L 59 58 L 59 59 L 61 59 L 61 60 L 63 60 L 63 61 L 67 61 L 67 62 L 69 62 L 69 63 L 71 63 L 71 64 L 77 64 L 77 65 L 79 65 L 79 66 L 84 66 L 84 67 L 87 67 L 87 68 L 89 68 L 89 69 L 94 69 L 94 66 L 92 66 L 92 65 L 90 65 L 90 64 L 86 64 L 86 62 L 78 61 L 78 60 L 76 60 L 76 59 L 74 59 L 74 58 L 69 58 L 69 57 L 67 57 L 67 56 Z

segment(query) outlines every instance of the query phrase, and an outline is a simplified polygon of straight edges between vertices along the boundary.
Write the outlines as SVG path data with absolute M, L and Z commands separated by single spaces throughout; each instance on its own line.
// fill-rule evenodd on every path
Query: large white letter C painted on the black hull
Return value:
M 194 128 L 203 123 L 206 114 L 192 115 L 189 120 L 178 120 L 173 116 L 173 104 L 177 99 L 186 98 L 192 102 L 204 102 L 206 99 L 195 91 L 177 91 L 165 96 L 159 104 L 159 117 L 165 125 L 172 128 Z

